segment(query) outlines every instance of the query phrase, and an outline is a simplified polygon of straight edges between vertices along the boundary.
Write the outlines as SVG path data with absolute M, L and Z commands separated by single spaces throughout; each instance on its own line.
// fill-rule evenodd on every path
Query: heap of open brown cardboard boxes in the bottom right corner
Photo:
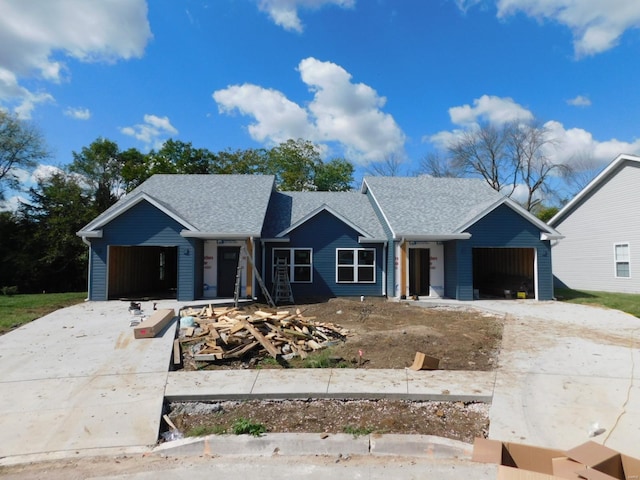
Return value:
M 596 442 L 564 452 L 477 438 L 472 460 L 499 465 L 499 480 L 640 480 L 640 459 Z

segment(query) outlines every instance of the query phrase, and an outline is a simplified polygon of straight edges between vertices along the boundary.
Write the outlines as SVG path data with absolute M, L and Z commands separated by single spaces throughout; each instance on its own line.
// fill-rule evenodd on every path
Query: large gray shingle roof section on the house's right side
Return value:
M 484 180 L 365 177 L 396 236 L 460 233 L 478 215 L 504 200 Z

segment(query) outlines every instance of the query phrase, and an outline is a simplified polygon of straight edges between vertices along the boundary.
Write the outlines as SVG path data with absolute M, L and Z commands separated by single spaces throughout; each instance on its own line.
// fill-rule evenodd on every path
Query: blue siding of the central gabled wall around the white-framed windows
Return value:
M 313 283 L 292 283 L 294 298 L 326 296 L 380 296 L 382 295 L 383 245 L 358 243 L 359 233 L 322 211 L 296 228 L 289 235 L 289 243 L 267 243 L 265 283 L 273 290 L 272 250 L 274 248 L 313 249 Z M 376 251 L 375 283 L 337 283 L 336 248 L 374 248 Z

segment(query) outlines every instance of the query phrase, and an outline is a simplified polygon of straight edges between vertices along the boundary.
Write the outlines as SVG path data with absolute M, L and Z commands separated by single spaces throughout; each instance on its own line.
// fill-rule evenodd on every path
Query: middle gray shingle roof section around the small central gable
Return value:
M 268 238 L 275 237 L 324 206 L 366 236 L 385 238 L 369 199 L 359 192 L 278 192 L 271 202 L 264 230 L 264 236 Z

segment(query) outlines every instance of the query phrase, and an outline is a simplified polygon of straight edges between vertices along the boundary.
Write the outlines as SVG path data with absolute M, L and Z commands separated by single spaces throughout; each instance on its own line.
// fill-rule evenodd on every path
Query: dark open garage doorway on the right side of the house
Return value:
M 474 248 L 474 296 L 535 298 L 533 248 Z

